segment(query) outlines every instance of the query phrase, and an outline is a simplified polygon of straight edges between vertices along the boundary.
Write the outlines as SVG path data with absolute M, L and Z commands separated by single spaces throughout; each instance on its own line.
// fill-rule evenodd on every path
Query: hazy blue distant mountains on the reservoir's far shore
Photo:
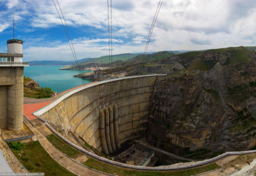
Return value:
M 91 59 L 91 57 L 79 59 L 78 63 Z M 75 61 L 29 61 L 30 66 L 72 66 Z

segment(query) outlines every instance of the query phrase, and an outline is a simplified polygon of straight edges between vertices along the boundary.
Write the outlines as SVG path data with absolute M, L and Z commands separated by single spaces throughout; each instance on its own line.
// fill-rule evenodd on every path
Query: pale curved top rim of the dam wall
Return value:
M 112 81 L 120 81 L 120 80 L 124 80 L 124 79 L 131 79 L 131 78 L 138 78 L 138 77 L 155 77 L 155 76 L 166 76 L 163 74 L 154 74 L 154 75 L 140 75 L 140 76 L 133 76 L 133 77 L 121 77 L 121 78 L 116 78 L 116 79 L 109 79 L 109 80 L 105 80 L 105 81 L 97 81 L 95 83 L 89 83 L 89 84 L 84 84 L 78 88 L 75 88 L 73 90 L 70 90 L 68 92 L 66 92 L 64 95 L 62 95 L 61 97 L 55 99 L 55 101 L 53 101 L 51 104 L 48 104 L 47 106 L 45 106 L 44 108 L 41 108 L 39 110 L 36 110 L 33 115 L 35 115 L 36 117 L 39 117 L 40 115 L 46 113 L 48 110 L 51 110 L 51 108 L 53 108 L 54 106 L 57 106 L 57 104 L 59 104 L 61 101 L 63 101 L 64 99 L 66 99 L 67 97 L 80 92 L 81 90 L 84 90 L 86 88 L 91 88 L 93 86 L 97 86 L 100 84 L 104 84 L 104 83 L 108 83 L 108 82 L 112 82 Z

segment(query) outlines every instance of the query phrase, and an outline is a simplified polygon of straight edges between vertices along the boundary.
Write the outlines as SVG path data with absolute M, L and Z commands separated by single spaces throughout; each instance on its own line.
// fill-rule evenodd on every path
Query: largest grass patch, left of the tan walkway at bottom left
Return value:
M 11 148 L 19 161 L 30 173 L 44 173 L 45 175 L 74 175 L 46 153 L 39 141 L 24 144 L 20 150 Z

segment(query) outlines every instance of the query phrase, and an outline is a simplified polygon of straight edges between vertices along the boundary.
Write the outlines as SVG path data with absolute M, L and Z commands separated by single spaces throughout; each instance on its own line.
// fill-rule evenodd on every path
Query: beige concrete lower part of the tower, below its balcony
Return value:
M 1 67 L 0 128 L 23 128 L 24 67 Z

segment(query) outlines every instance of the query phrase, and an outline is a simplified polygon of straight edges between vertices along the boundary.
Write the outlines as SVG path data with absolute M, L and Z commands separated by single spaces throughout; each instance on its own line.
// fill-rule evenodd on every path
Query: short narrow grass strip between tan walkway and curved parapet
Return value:
M 66 144 L 64 141 L 62 141 L 62 139 L 58 138 L 56 135 L 48 135 L 47 139 L 51 141 L 55 148 L 61 150 L 62 153 L 68 155 L 68 157 L 75 159 L 75 157 L 81 155 L 79 151 L 75 150 L 74 148 L 71 148 L 71 146 L 68 146 L 68 144 Z

